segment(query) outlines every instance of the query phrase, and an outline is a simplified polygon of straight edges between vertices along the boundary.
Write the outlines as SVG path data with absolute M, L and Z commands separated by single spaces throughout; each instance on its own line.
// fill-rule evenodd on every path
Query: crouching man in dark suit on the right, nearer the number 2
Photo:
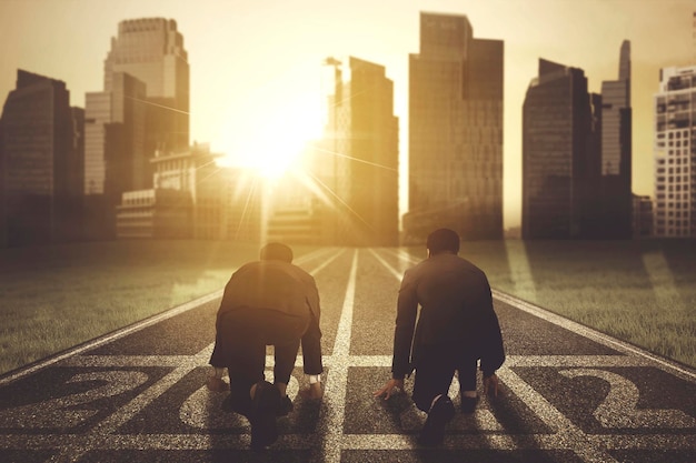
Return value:
M 484 393 L 490 390 L 495 395 L 495 372 L 505 361 L 488 279 L 457 255 L 459 241 L 454 230 L 434 231 L 427 239 L 428 259 L 404 274 L 397 302 L 392 375 L 375 392 L 375 396 L 389 399 L 395 391 L 404 390 L 404 378 L 416 370 L 412 399 L 428 413 L 419 436 L 421 445 L 440 444 L 445 426 L 455 415 L 447 395 L 455 371 L 459 375 L 461 411 L 473 413 L 478 402 L 478 360 Z

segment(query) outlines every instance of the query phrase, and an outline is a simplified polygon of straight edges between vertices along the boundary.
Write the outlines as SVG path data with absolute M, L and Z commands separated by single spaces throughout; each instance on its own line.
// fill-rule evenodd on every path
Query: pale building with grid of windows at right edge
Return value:
M 696 66 L 664 68 L 655 94 L 656 236 L 696 236 Z

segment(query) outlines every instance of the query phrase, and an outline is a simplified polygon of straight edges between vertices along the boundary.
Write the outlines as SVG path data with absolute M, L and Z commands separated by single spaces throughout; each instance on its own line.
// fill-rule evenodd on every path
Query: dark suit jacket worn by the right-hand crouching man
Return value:
M 460 355 L 480 359 L 486 375 L 505 361 L 488 279 L 456 254 L 431 255 L 404 274 L 394 334 L 394 378 L 402 379 L 418 368 L 418 351 L 425 345 L 451 346 Z

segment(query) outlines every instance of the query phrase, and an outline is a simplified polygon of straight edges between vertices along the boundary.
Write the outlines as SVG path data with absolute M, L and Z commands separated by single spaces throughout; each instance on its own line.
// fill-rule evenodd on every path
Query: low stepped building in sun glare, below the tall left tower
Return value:
M 264 188 L 240 169 L 220 167 L 208 144 L 157 152 L 153 188 L 127 191 L 117 205 L 118 239 L 197 239 L 260 242 Z

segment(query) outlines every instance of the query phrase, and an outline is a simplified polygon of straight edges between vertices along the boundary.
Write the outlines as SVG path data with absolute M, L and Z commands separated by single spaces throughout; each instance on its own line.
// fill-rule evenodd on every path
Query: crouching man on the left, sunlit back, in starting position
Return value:
M 249 420 L 255 450 L 276 442 L 277 416 L 292 411 L 286 390 L 300 343 L 310 383 L 306 395 L 322 396 L 319 314 L 315 279 L 292 264 L 292 250 L 281 243 L 264 246 L 260 261 L 242 265 L 225 286 L 208 387 L 227 389 L 227 368 L 230 394 L 222 407 Z M 267 345 L 275 346 L 274 384 L 264 375 Z

